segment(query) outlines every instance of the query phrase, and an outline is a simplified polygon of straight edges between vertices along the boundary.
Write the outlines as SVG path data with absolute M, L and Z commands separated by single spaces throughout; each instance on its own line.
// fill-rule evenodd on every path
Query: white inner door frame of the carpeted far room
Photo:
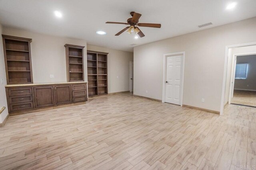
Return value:
M 256 52 L 250 53 L 237 53 L 232 56 L 232 70 L 231 70 L 231 78 L 230 78 L 230 87 L 229 87 L 229 95 L 228 95 L 228 104 L 231 104 L 231 99 L 234 94 L 234 83 L 235 83 L 235 72 L 236 72 L 236 57 L 237 56 L 246 56 L 246 55 L 256 55 Z

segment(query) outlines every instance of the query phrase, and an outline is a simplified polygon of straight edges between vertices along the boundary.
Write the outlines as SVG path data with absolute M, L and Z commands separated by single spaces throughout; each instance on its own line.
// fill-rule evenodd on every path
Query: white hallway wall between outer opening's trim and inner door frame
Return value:
M 226 77 L 224 104 L 226 104 L 228 102 L 229 93 L 230 93 L 230 81 L 231 81 L 233 55 L 243 54 L 243 53 L 254 53 L 254 52 L 256 53 L 256 45 L 228 49 L 228 65 L 227 65 L 227 77 Z

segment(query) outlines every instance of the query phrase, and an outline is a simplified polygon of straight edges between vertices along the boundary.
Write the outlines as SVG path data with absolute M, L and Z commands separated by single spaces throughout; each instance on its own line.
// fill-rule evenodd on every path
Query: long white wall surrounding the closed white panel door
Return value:
M 183 104 L 220 111 L 225 47 L 255 42 L 255 28 L 251 18 L 134 47 L 134 94 L 162 100 L 163 55 L 185 51 Z

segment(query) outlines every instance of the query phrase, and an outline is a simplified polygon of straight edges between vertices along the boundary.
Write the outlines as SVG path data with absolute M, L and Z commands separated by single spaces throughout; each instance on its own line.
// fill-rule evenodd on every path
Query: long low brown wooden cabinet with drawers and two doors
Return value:
M 83 82 L 48 85 L 7 85 L 6 97 L 10 115 L 42 108 L 60 107 L 87 101 L 87 84 Z

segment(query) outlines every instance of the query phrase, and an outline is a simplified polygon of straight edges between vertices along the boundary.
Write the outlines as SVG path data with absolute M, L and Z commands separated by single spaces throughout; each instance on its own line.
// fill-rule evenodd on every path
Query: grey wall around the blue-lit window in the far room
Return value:
M 248 63 L 248 72 L 246 80 L 235 80 L 234 89 L 256 90 L 256 55 L 238 56 L 236 63 Z

